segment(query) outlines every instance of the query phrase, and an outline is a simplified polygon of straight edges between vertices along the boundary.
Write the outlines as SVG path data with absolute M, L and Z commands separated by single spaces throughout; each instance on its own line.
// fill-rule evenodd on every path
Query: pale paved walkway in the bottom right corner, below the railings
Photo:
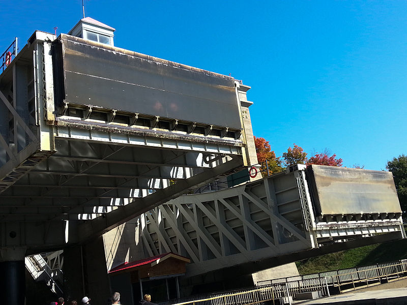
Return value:
M 407 304 L 407 288 L 385 289 L 364 292 L 352 292 L 324 297 L 316 300 L 295 301 L 298 305 L 316 305 L 316 304 L 369 304 L 369 305 L 398 305 Z

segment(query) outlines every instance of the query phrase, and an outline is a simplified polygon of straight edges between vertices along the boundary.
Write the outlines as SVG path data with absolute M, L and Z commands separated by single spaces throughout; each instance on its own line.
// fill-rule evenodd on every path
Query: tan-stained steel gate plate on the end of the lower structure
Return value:
M 401 213 L 391 172 L 311 165 L 307 179 L 319 215 Z

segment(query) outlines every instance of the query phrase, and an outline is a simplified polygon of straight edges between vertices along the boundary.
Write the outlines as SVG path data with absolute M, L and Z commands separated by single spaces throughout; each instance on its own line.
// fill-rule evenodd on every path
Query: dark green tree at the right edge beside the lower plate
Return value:
M 386 168 L 393 173 L 394 184 L 398 200 L 400 201 L 403 216 L 407 212 L 407 156 L 400 155 L 398 158 L 387 162 Z

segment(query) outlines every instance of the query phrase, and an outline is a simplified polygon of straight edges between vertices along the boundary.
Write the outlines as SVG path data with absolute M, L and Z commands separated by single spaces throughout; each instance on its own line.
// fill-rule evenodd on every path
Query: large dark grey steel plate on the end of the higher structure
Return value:
M 232 77 L 68 35 L 60 41 L 68 103 L 242 129 Z

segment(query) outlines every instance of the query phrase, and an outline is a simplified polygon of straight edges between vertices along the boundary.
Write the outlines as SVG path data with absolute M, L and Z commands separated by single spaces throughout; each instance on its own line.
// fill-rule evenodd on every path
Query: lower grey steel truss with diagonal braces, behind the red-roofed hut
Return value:
M 405 237 L 400 218 L 320 222 L 304 168 L 173 199 L 140 217 L 139 227 L 145 255 L 174 252 L 189 257 L 187 276 L 318 248 L 327 241 L 397 231 Z

